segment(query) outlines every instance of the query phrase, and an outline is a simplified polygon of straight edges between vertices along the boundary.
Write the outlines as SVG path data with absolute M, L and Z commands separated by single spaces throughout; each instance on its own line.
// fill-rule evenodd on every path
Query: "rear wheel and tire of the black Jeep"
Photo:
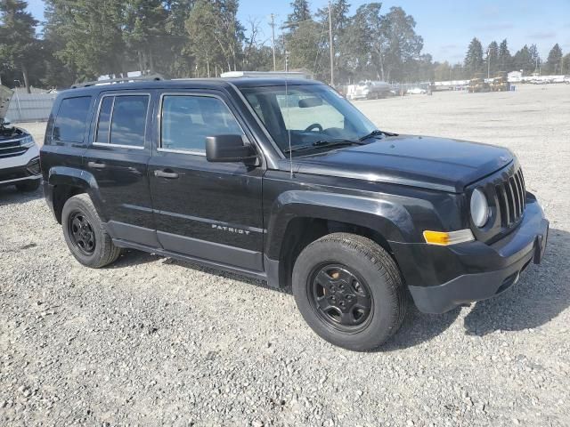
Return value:
M 86 267 L 99 269 L 117 261 L 121 250 L 103 228 L 88 195 L 78 194 L 65 202 L 61 227 L 69 251 Z

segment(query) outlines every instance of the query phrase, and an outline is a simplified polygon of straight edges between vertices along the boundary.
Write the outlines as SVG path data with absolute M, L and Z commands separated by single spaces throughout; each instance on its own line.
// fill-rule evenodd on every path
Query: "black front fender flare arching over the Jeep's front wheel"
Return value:
M 273 260 L 279 259 L 289 222 L 295 218 L 347 222 L 378 231 L 388 241 L 412 241 L 416 234 L 414 224 L 398 198 L 402 197 L 389 195 L 373 198 L 320 191 L 285 191 L 276 198 L 271 209 L 266 254 Z

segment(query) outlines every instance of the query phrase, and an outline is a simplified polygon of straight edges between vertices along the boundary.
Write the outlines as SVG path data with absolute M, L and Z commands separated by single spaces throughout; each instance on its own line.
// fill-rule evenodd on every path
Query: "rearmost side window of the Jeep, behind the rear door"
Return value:
M 90 104 L 90 96 L 62 100 L 53 124 L 53 139 L 83 143 Z

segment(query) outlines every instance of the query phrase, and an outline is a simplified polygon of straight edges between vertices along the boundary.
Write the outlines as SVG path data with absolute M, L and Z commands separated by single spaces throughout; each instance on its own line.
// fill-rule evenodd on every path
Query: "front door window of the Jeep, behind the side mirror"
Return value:
M 211 96 L 164 95 L 161 149 L 203 153 L 207 136 L 224 134 L 243 135 L 224 101 Z

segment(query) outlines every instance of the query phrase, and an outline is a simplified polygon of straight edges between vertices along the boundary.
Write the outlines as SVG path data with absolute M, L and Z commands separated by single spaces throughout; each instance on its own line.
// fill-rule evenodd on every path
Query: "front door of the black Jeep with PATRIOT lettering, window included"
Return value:
M 157 235 L 167 250 L 263 270 L 261 167 L 210 163 L 206 137 L 244 126 L 222 95 L 163 93 L 149 164 Z

